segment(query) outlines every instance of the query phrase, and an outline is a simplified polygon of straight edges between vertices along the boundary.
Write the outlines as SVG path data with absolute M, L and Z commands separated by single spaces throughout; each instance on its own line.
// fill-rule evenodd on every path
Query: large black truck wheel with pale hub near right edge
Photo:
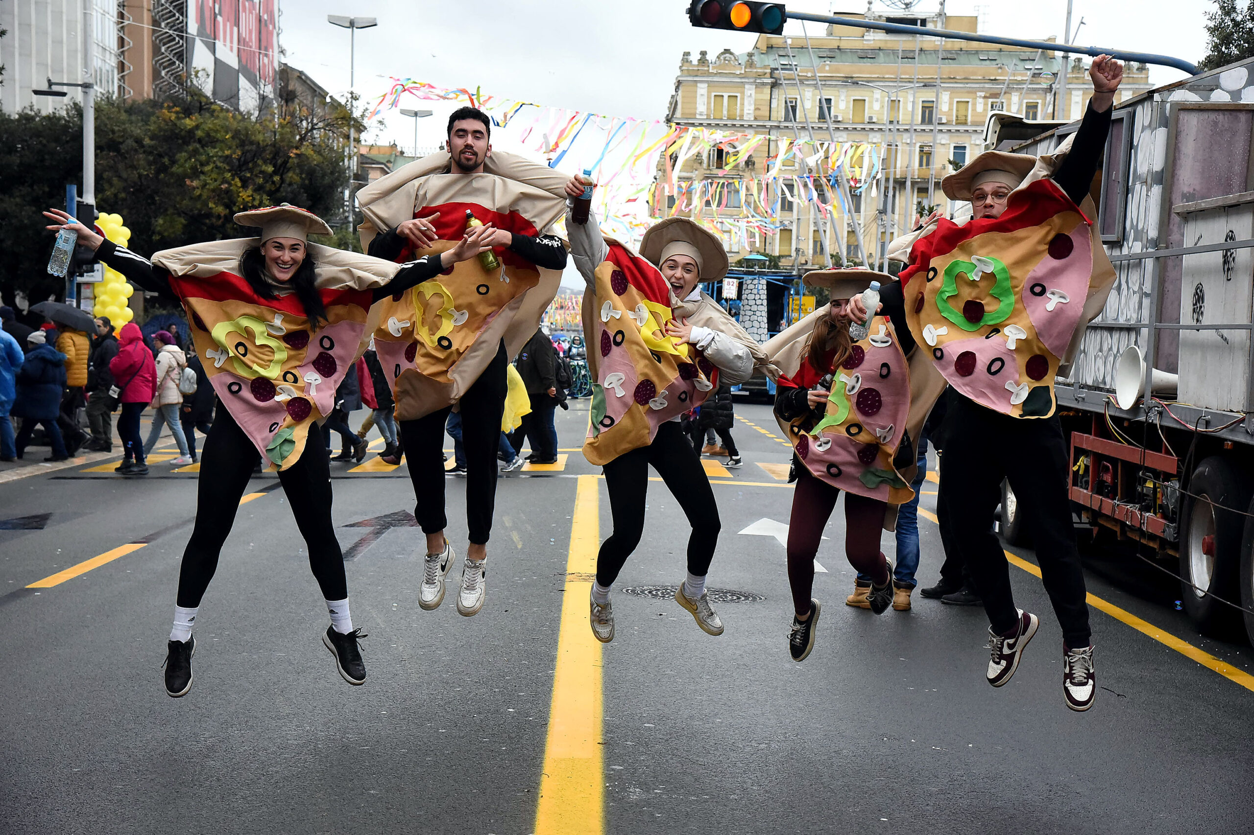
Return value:
M 1218 455 L 1203 460 L 1189 483 L 1180 514 L 1180 577 L 1185 580 L 1180 599 L 1205 634 L 1225 633 L 1238 623 L 1236 609 L 1211 596 L 1240 598 L 1236 580 L 1245 519 L 1224 508 L 1245 508 L 1249 499 L 1246 479 Z

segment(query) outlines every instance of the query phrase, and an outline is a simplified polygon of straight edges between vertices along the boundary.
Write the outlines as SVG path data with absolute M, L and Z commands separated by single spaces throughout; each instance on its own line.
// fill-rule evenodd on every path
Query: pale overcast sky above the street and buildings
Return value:
M 932 14 L 938 0 L 922 0 Z M 1073 0 L 1072 30 L 1085 20 L 1076 43 L 1199 61 L 1205 54 L 1206 0 Z M 816 14 L 863 11 L 865 0 L 791 0 L 789 9 Z M 884 9 L 883 0 L 875 0 Z M 982 31 L 1012 38 L 1061 39 L 1066 0 L 952 0 L 951 15 L 983 9 Z M 314 76 L 334 95 L 349 90 L 349 30 L 326 21 L 329 14 L 374 16 L 379 25 L 357 31 L 356 92 L 375 102 L 390 78 L 413 78 L 439 87 L 480 87 L 500 99 L 591 110 L 614 117 L 660 119 L 675 87 L 680 56 L 724 48 L 745 51 L 754 35 L 693 29 L 687 0 L 479 0 L 474 4 L 398 0 L 286 0 L 281 46 L 285 60 Z M 800 23 L 785 29 L 800 35 Z M 811 35 L 820 24 L 806 24 Z M 1167 84 L 1184 76 L 1151 68 L 1150 80 Z M 419 122 L 419 147 L 435 148 L 454 104 L 405 97 L 401 107 L 431 109 Z M 414 120 L 396 110 L 372 123 L 366 139 L 414 144 Z M 504 139 L 504 137 L 502 137 Z M 563 283 L 581 285 L 572 272 Z

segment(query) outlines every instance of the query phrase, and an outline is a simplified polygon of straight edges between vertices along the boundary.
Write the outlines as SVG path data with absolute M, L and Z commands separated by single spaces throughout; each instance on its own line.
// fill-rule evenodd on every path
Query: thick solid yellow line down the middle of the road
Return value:
M 588 628 L 588 596 L 601 540 L 597 476 L 581 475 L 571 519 L 571 550 L 562 593 L 562 626 L 553 671 L 544 770 L 535 835 L 604 831 L 601 751 L 601 643 Z

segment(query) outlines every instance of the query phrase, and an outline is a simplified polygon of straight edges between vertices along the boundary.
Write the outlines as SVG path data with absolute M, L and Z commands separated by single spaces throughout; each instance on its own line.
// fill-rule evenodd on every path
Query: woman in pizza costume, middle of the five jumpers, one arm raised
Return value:
M 572 179 L 568 193 L 582 191 Z M 641 255 L 604 238 L 594 213 L 582 226 L 568 214 L 567 233 L 588 283 L 583 330 L 596 380 L 583 454 L 604 470 L 614 525 L 597 554 L 592 633 L 603 643 L 614 637 L 609 587 L 643 534 L 652 465 L 692 525 L 687 577 L 675 599 L 701 629 L 722 634 L 705 588 L 721 527 L 719 505 L 680 416 L 720 382 L 751 377 L 759 360 L 762 370 L 774 375 L 775 369 L 752 337 L 697 288 L 697 282 L 719 281 L 727 272 L 727 253 L 712 233 L 670 218 L 645 233 Z

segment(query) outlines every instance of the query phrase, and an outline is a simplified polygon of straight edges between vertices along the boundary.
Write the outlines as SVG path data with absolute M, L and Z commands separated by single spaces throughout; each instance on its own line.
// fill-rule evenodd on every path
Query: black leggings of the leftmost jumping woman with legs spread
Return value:
M 129 405 L 129 404 L 128 404 Z M 234 524 L 240 499 L 261 454 L 240 429 L 231 412 L 219 409 L 201 453 L 201 479 L 196 491 L 196 528 L 183 552 L 178 573 L 178 604 L 196 608 L 218 567 L 222 544 Z M 349 597 L 344 554 L 331 524 L 331 465 L 322 428 L 310 424 L 305 450 L 296 464 L 280 470 L 278 480 L 292 507 L 296 525 L 310 552 L 310 568 L 329 601 Z

